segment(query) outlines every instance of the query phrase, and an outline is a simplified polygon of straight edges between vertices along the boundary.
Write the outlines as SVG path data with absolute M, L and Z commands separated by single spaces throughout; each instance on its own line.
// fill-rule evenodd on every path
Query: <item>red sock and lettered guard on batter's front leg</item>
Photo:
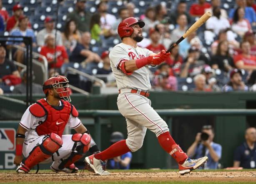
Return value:
M 161 147 L 166 152 L 168 152 L 179 164 L 183 164 L 183 162 L 188 158 L 186 153 L 184 153 L 173 140 L 173 137 L 171 137 L 170 132 L 165 132 L 159 135 L 157 139 Z

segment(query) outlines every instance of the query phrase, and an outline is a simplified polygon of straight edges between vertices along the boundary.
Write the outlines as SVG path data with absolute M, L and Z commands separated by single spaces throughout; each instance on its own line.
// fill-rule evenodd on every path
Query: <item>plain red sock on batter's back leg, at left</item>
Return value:
M 126 145 L 125 140 L 120 140 L 115 144 L 111 145 L 110 147 L 108 147 L 103 152 L 97 153 L 94 157 L 95 159 L 106 160 L 118 157 L 130 151 L 131 150 Z

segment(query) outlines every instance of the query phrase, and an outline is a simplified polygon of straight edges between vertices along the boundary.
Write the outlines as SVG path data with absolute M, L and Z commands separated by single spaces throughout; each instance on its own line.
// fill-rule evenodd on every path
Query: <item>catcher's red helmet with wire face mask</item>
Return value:
M 53 88 L 56 93 L 65 101 L 71 102 L 69 81 L 65 76 L 51 77 L 43 83 L 43 92 L 46 94 L 50 88 Z

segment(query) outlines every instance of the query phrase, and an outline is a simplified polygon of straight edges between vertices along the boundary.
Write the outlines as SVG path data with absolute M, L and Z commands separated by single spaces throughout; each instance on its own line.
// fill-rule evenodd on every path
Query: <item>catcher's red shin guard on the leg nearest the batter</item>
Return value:
M 67 159 L 63 160 L 60 163 L 59 165 L 60 170 L 78 161 L 90 149 L 91 137 L 87 133 L 84 133 L 84 134 L 76 133 L 72 136 L 72 140 L 74 141 L 72 152 Z M 78 142 L 81 142 L 82 145 L 77 146 Z

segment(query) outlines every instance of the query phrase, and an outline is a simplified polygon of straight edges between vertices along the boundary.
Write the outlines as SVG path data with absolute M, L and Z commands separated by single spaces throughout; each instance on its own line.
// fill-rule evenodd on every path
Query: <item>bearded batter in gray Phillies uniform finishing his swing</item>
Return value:
M 171 137 L 166 122 L 151 107 L 151 101 L 147 98 L 151 89 L 148 65 L 161 64 L 170 53 L 162 50 L 155 54 L 137 46 L 143 39 L 144 25 L 144 22 L 138 22 L 133 17 L 123 20 L 118 25 L 122 43 L 110 51 L 109 57 L 119 89 L 117 105 L 120 113 L 126 118 L 128 137 L 103 152 L 85 157 L 85 163 L 89 164 L 96 174 L 104 174 L 104 160 L 140 149 L 147 129 L 156 134 L 161 147 L 176 160 L 179 173 L 182 175 L 200 167 L 208 159 L 188 158 Z

